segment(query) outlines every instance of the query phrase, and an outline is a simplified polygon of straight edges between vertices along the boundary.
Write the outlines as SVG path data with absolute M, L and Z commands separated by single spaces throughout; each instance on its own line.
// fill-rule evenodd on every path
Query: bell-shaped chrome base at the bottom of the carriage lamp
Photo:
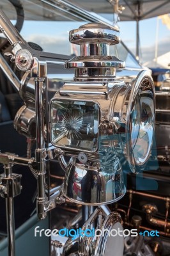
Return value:
M 65 196 L 84 205 L 109 204 L 120 199 L 125 194 L 120 160 L 113 154 L 106 158 L 93 166 L 86 166 L 76 163 L 77 159 L 72 157 L 64 182 Z

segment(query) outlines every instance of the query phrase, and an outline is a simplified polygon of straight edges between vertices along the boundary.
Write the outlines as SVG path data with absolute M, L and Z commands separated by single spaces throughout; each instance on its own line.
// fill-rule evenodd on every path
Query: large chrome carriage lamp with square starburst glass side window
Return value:
M 66 171 L 63 194 L 79 204 L 103 205 L 125 194 L 119 157 L 127 157 L 132 172 L 144 169 L 153 140 L 155 89 L 148 70 L 133 84 L 116 78 L 125 62 L 109 56 L 120 33 L 91 23 L 70 31 L 70 42 L 81 56 L 66 61 L 75 68 L 50 101 L 50 141 Z M 68 164 L 65 156 L 70 156 Z

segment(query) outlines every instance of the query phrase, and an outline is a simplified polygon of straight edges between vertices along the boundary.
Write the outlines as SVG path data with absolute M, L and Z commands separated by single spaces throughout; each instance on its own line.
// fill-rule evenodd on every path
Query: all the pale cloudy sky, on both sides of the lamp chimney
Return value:
M 70 55 L 68 32 L 86 22 L 24 21 L 21 31 L 27 42 L 35 42 L 44 51 Z M 119 22 L 121 40 L 135 54 L 135 21 Z M 141 63 L 155 57 L 157 17 L 139 22 Z M 170 51 L 170 30 L 158 19 L 158 56 Z

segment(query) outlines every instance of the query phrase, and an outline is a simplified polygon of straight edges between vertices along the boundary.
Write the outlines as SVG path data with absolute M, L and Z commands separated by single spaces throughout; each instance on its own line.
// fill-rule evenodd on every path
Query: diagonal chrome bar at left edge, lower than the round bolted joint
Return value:
M 4 60 L 1 53 L 0 53 L 0 68 L 1 68 L 1 70 L 3 70 L 5 76 L 12 83 L 13 88 L 15 90 L 17 90 L 17 92 L 19 92 L 19 90 L 20 90 L 20 81 L 19 81 L 18 77 L 15 75 L 15 73 L 13 72 L 12 68 L 10 68 L 10 65 L 8 65 L 6 60 Z

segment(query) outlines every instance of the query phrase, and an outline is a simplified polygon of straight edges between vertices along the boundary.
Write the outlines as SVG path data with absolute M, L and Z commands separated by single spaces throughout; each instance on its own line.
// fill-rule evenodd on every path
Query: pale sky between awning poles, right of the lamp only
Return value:
M 157 24 L 158 23 L 158 24 Z M 158 26 L 158 56 L 170 51 L 170 30 L 157 17 L 139 22 L 139 38 L 141 62 L 153 60 L 155 57 L 156 30 Z M 120 22 L 121 38 L 127 47 L 135 54 L 134 21 Z

